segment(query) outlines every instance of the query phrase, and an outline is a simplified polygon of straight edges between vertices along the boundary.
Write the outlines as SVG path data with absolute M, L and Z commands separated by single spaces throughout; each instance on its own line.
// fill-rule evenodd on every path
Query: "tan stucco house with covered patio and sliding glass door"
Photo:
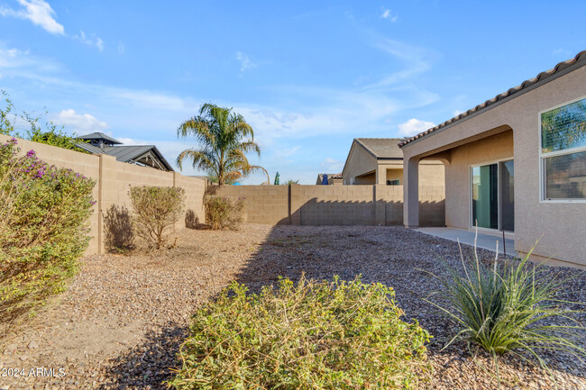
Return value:
M 445 167 L 445 225 L 507 235 L 536 260 L 586 266 L 586 51 L 399 142 L 404 223 L 422 161 Z

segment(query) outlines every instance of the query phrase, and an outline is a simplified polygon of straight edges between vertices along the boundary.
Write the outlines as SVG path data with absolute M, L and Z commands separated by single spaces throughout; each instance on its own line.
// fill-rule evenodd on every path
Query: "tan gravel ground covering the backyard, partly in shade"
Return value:
M 487 261 L 494 257 L 489 251 L 479 254 Z M 91 256 L 49 310 L 0 341 L 0 369 L 9 375 L 0 376 L 0 389 L 165 388 L 161 382 L 172 376 L 189 315 L 198 305 L 231 280 L 254 291 L 278 276 L 297 279 L 303 272 L 316 279 L 362 274 L 364 282 L 392 286 L 406 319 L 417 319 L 434 335 L 429 358 L 435 374 L 427 388 L 497 388 L 489 356 L 462 342 L 441 350 L 455 328 L 423 301 L 441 287 L 421 271 L 441 274 L 440 258 L 459 264 L 457 244 L 402 227 L 255 224 L 241 231 L 181 231 L 178 247 L 160 252 Z M 579 273 L 572 268 L 551 272 Z M 586 302 L 586 276 L 571 283 L 567 291 L 576 293 L 567 298 Z M 586 322 L 583 315 L 579 320 Z M 583 363 L 560 353 L 545 357 L 558 388 L 586 389 Z M 499 375 L 503 388 L 555 386 L 543 370 L 516 358 L 500 358 Z

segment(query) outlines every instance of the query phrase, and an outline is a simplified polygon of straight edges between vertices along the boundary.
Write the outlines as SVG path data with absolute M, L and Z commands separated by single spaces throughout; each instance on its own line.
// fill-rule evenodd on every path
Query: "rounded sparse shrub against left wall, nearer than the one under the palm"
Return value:
M 163 248 L 185 204 L 185 190 L 169 186 L 131 187 L 133 229 L 149 247 Z

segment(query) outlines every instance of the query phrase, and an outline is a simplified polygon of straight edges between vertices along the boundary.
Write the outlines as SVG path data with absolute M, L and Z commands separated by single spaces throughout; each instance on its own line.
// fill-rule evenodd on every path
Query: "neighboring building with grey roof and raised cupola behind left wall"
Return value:
M 92 132 L 77 138 L 85 142 L 76 143 L 79 149 L 92 154 L 108 154 L 116 160 L 141 167 L 150 167 L 164 171 L 173 168 L 154 145 L 123 145 L 122 142 L 102 133 Z

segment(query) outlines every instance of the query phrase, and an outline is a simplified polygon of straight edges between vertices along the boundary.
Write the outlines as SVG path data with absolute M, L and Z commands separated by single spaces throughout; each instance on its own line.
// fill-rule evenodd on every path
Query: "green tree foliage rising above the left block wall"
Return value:
M 5 106 L 0 107 L 0 134 L 88 153 L 86 150 L 82 150 L 75 145 L 83 141 L 75 140 L 75 134 L 69 136 L 64 131 L 64 127 L 59 127 L 53 122 L 45 122 L 44 125 L 41 125 L 42 116 L 33 116 L 27 112 L 14 113 L 14 104 L 10 100 L 10 97 L 4 90 L 1 93 Z M 23 124 L 24 132 L 19 132 L 16 129 L 17 122 Z

